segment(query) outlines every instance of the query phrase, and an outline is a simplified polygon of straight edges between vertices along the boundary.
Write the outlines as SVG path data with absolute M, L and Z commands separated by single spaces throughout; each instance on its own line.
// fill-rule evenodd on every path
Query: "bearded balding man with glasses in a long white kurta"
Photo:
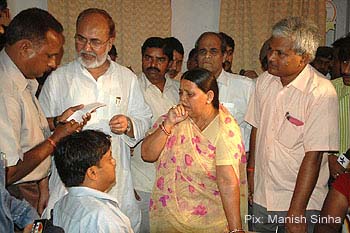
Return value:
M 74 39 L 77 59 L 51 74 L 39 100 L 47 117 L 76 103 L 107 105 L 92 114 L 86 127 L 111 135 L 118 179 L 108 193 L 120 202 L 122 212 L 138 232 L 141 213 L 133 191 L 129 147 L 143 138 L 149 128 L 151 111 L 134 73 L 108 56 L 115 40 L 115 24 L 106 11 L 90 8 L 81 12 Z M 48 209 L 66 193 L 56 169 L 52 170 L 50 188 Z

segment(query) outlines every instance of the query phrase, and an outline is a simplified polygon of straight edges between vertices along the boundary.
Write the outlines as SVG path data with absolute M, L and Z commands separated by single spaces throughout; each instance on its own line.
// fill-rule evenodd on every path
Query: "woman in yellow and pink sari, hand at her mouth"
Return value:
M 151 232 L 244 232 L 240 215 L 240 129 L 219 106 L 215 77 L 187 71 L 180 104 L 153 126 L 142 158 L 156 162 Z

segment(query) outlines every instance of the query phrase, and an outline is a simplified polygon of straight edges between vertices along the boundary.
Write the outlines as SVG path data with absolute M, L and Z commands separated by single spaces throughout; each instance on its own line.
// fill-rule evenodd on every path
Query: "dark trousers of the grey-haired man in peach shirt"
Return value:
M 305 218 L 295 216 L 293 218 L 294 223 L 303 222 L 307 223 L 307 232 L 312 233 L 315 228 L 316 222 L 314 221 L 319 216 L 318 210 L 307 210 L 305 212 Z M 287 211 L 267 211 L 263 206 L 256 203 L 252 207 L 252 215 L 250 223 L 252 230 L 262 233 L 275 233 L 278 228 L 278 233 L 285 232 L 285 225 L 283 220 L 287 216 Z

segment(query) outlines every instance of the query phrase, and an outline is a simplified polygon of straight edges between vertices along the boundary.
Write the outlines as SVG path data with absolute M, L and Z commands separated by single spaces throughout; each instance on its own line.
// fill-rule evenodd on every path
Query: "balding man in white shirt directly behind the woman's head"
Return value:
M 222 68 L 225 60 L 226 45 L 224 39 L 215 32 L 203 33 L 196 42 L 198 66 L 211 71 L 219 86 L 219 100 L 237 120 L 241 128 L 246 151 L 249 151 L 251 126 L 244 121 L 249 98 L 254 91 L 255 83 L 251 79 L 226 72 Z

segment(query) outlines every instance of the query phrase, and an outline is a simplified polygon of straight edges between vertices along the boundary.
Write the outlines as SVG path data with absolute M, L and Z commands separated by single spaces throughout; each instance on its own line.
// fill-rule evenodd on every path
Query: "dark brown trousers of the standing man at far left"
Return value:
M 29 202 L 36 210 L 38 210 L 39 205 L 39 182 L 31 181 L 20 184 L 12 184 L 7 187 L 9 193 L 20 200 L 26 200 Z

